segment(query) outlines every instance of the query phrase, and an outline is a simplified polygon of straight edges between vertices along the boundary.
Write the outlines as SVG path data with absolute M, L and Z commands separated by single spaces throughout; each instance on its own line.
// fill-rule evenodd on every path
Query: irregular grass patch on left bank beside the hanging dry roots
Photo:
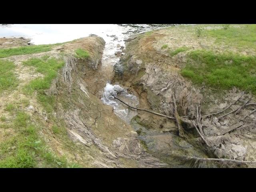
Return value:
M 47 96 L 44 90 L 50 88 L 52 80 L 57 77 L 58 70 L 64 65 L 64 61 L 44 56 L 42 58 L 31 58 L 23 62 L 23 64 L 34 66 L 37 72 L 44 74 L 44 78 L 40 77 L 30 81 L 25 86 L 24 91 L 30 94 L 37 91 L 39 102 L 46 108 L 46 112 L 51 112 L 55 97 Z

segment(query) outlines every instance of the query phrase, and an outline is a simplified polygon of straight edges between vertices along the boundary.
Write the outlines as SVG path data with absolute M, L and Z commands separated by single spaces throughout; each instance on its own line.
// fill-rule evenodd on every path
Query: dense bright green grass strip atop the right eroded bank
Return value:
M 235 86 L 256 94 L 255 56 L 195 50 L 188 54 L 186 67 L 181 74 L 196 84 L 205 82 L 217 89 L 230 89 Z

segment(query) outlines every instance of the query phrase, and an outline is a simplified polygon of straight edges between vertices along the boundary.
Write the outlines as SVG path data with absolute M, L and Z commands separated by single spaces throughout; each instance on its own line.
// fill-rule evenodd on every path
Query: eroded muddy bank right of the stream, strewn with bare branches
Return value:
M 250 114 L 250 108 L 239 110 L 235 114 L 230 113 L 221 119 L 218 119 L 221 115 L 206 116 L 221 111 L 232 103 L 233 105 L 226 113 L 236 110 L 248 99 L 250 102 L 255 102 L 255 97 L 248 92 L 242 94 L 242 91 L 236 88 L 216 92 L 208 86 L 196 86 L 182 77 L 180 70 L 186 65 L 188 52 L 170 56 L 162 45 L 168 44 L 169 47 L 178 48 L 190 42 L 189 46 L 192 49 L 198 49 L 206 48 L 204 44 L 209 42 L 200 40 L 198 44 L 193 34 L 191 36 L 188 34 L 178 41 L 178 36 L 185 30 L 184 28 L 154 30 L 150 34 L 145 33 L 128 38 L 125 55 L 115 65 L 116 76 L 112 81 L 113 84 L 118 82 L 129 87 L 134 94 L 137 94 L 140 100 L 139 108 L 146 108 L 167 116 L 174 116 L 175 106 L 172 97 L 174 93 L 179 116 L 188 120 L 187 124 L 182 123 L 185 138 L 179 136 L 175 121 L 139 110 L 132 126 L 139 138 L 145 142 L 149 153 L 174 166 L 186 164 L 181 159 L 175 160 L 174 156 L 255 161 L 256 142 L 252 140 L 255 137 L 254 123 L 240 121 L 246 114 Z M 212 44 L 212 46 L 216 45 Z M 218 50 L 222 48 L 215 47 Z M 230 47 L 230 50 L 234 48 Z M 207 144 L 196 128 L 191 126 L 191 120 L 198 119 L 198 115 L 203 118 L 196 122 L 196 127 L 202 128 L 198 131 L 203 134 Z M 251 118 L 255 120 L 252 114 Z M 199 161 L 190 166 L 254 167 L 255 164 Z

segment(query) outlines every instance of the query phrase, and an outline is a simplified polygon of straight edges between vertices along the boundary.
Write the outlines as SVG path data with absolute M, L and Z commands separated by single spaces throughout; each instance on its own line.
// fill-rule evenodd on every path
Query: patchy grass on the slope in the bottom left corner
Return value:
M 16 130 L 15 136 L 0 142 L 0 168 L 33 168 L 40 164 L 54 168 L 79 167 L 49 150 L 37 134 L 40 127 L 32 124 L 25 112 L 17 113 L 12 128 Z

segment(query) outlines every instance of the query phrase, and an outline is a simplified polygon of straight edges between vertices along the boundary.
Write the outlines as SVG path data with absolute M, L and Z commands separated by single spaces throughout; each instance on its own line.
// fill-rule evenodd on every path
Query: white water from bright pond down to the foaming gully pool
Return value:
M 148 24 L 10 24 L 7 26 L 0 25 L 0 37 L 30 38 L 32 44 L 38 45 L 67 42 L 95 34 L 102 37 L 106 42 L 102 55 L 102 67 L 107 69 L 119 61 L 119 58 L 114 53 L 120 51 L 120 46 L 125 46 L 124 40 L 129 35 L 159 27 L 158 25 Z M 110 70 L 111 72 L 112 70 Z M 131 118 L 137 114 L 136 110 L 132 110 L 114 99 L 113 96 L 117 94 L 132 106 L 138 105 L 136 96 L 128 94 L 119 85 L 111 85 L 109 83 L 106 83 L 104 88 L 102 102 L 111 105 L 117 116 L 126 122 L 130 122 Z

